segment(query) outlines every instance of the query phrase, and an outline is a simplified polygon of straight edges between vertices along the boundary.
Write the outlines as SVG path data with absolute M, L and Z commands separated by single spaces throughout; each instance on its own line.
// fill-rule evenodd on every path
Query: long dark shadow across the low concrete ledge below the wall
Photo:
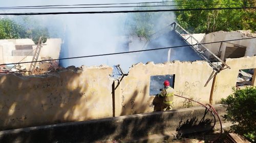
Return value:
M 118 120 L 102 120 L 89 122 L 67 123 L 52 128 L 35 127 L 33 131 L 22 131 L 0 136 L 1 142 L 95 142 L 115 139 L 139 138 L 152 133 L 164 134 L 169 127 L 168 119 L 173 114 L 157 113 L 150 116 L 133 115 L 125 118 L 121 123 Z M 157 125 L 156 125 L 157 123 Z

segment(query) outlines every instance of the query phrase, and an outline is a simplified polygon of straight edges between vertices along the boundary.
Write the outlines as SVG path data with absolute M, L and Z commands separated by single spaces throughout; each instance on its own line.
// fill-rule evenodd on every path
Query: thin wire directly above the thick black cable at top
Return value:
M 0 8 L 0 9 L 77 9 L 77 8 L 136 8 L 136 7 L 176 7 L 176 6 L 217 6 L 217 5 L 233 5 L 233 4 L 195 4 L 195 5 L 157 5 L 157 6 L 106 6 L 106 7 L 36 7 L 36 8 Z

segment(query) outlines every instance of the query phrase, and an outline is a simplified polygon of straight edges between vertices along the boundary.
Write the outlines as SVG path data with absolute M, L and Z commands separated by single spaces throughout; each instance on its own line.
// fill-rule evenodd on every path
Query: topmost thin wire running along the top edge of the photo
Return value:
M 45 6 L 19 6 L 19 7 L 0 7 L 0 8 L 29 8 L 29 7 L 62 7 L 62 6 L 98 6 L 98 5 L 130 5 L 130 4 L 157 4 L 157 3 L 175 3 L 175 2 L 203 2 L 210 0 L 190 0 L 190 1 L 169 1 L 169 2 L 141 2 L 141 3 L 112 3 L 112 4 L 80 4 L 80 5 L 45 5 Z

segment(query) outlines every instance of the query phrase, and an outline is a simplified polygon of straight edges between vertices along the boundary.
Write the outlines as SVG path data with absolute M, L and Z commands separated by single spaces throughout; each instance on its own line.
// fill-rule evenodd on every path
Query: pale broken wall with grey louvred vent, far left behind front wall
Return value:
M 40 51 L 36 51 L 37 46 L 38 45 L 35 44 L 31 39 L 0 40 L 0 64 L 8 64 L 1 66 L 2 72 L 8 73 L 29 71 L 29 68 L 31 66 L 31 63 L 29 62 L 32 61 L 33 58 L 35 58 L 35 53 L 39 54 L 37 57 L 37 61 L 59 58 L 61 39 L 48 39 L 46 43 L 42 44 L 42 48 L 40 49 Z M 37 65 L 39 65 L 39 63 L 37 63 Z M 58 63 L 56 63 L 55 65 L 58 65 Z

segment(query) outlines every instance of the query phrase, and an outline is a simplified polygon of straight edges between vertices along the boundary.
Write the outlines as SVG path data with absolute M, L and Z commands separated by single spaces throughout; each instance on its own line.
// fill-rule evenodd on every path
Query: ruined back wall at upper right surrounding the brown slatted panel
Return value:
M 248 34 L 247 34 L 248 35 Z M 248 35 L 249 36 L 249 35 Z M 249 36 L 251 37 L 251 36 Z M 232 40 L 232 39 L 241 39 L 241 38 L 249 38 L 244 33 L 241 32 L 214 32 L 210 34 L 206 34 L 202 43 L 207 42 L 215 42 L 215 41 L 223 41 L 223 40 Z M 256 38 L 254 39 L 246 39 L 246 40 L 237 40 L 237 41 L 229 41 L 234 44 L 239 44 L 246 46 L 246 52 L 245 56 L 254 56 L 256 54 Z M 221 43 L 211 43 L 211 44 L 205 44 L 205 46 L 215 55 L 218 55 L 220 50 Z M 222 43 L 221 46 L 221 59 L 224 59 L 224 54 L 226 50 L 226 46 L 230 46 L 231 44 Z

